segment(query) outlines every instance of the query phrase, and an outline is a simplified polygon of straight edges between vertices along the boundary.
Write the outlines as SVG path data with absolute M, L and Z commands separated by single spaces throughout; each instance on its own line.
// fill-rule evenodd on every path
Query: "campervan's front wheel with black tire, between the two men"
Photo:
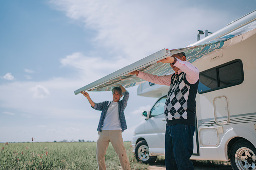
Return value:
M 149 147 L 146 140 L 139 141 L 135 146 L 135 157 L 138 162 L 152 164 L 157 156 L 149 156 Z

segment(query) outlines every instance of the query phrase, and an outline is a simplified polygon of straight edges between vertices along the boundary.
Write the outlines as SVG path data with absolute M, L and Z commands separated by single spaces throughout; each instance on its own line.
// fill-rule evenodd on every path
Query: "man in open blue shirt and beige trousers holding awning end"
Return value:
M 111 142 L 119 157 L 122 168 L 127 170 L 130 169 L 130 163 L 124 147 L 122 132 L 127 129 L 124 109 L 127 106 L 129 93 L 122 86 L 114 87 L 112 92 L 113 101 L 101 103 L 94 103 L 87 92 L 81 91 L 80 93 L 88 99 L 92 108 L 102 111 L 97 129 L 99 131 L 96 149 L 98 168 L 100 170 L 106 169 L 105 154 L 109 142 Z M 123 95 L 123 100 L 120 100 Z

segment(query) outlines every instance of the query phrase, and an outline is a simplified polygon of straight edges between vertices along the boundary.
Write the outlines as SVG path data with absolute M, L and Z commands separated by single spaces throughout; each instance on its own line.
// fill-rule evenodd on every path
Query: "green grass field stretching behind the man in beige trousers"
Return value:
M 148 169 L 136 161 L 130 142 L 124 142 L 131 169 Z M 98 169 L 95 142 L 0 143 L 0 169 Z M 107 169 L 121 169 L 111 143 L 107 149 Z

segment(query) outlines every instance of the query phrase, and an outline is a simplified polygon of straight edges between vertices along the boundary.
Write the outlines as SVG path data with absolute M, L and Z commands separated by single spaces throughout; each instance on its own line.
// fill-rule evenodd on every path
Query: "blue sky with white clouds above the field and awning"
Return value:
M 255 10 L 245 1 L 0 1 L 0 142 L 97 141 L 100 111 L 74 91 Z M 201 38 L 203 36 L 201 35 Z M 130 93 L 124 141 L 157 98 Z M 96 103 L 111 92 L 89 92 Z

